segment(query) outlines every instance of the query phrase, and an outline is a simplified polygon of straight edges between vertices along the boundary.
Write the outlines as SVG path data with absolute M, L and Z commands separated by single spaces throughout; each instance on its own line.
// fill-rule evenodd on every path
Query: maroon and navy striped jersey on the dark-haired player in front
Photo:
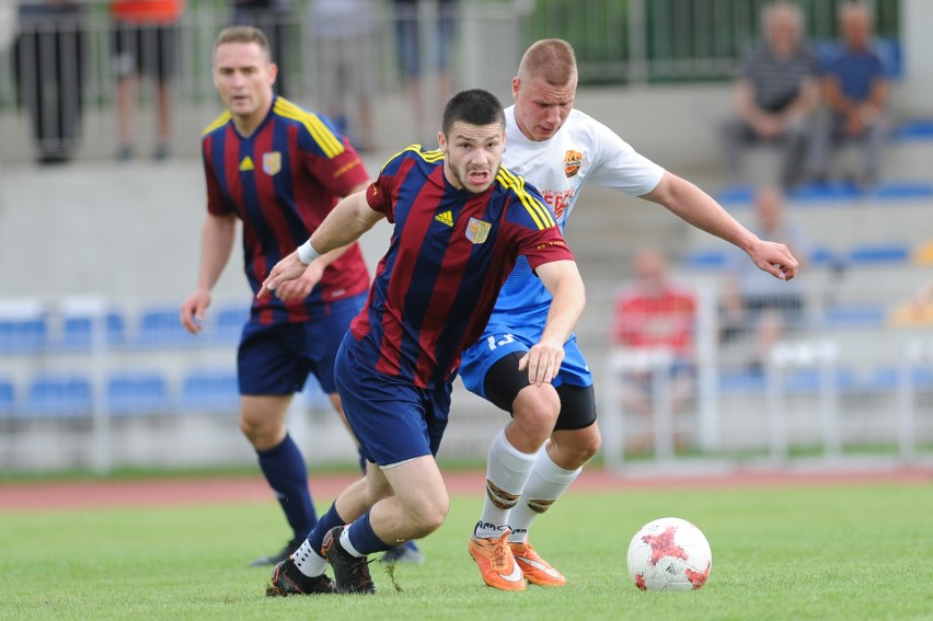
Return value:
M 421 388 L 454 377 L 519 255 L 532 269 L 573 260 L 541 195 L 504 168 L 489 189 L 471 194 L 447 181 L 440 151 L 414 146 L 382 168 L 366 197 L 395 227 L 350 324 L 354 353 Z

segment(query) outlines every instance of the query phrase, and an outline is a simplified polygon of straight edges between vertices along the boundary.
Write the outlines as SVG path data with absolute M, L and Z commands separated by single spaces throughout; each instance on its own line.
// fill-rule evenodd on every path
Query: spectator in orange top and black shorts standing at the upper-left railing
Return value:
M 178 25 L 185 0 L 112 0 L 114 68 L 117 76 L 118 160 L 133 158 L 139 78 L 154 82 L 157 143 L 152 157 L 169 157 L 172 79 L 178 64 Z

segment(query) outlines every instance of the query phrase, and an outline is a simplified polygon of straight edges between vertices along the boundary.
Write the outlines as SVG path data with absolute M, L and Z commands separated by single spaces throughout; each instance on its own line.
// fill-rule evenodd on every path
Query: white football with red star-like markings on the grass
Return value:
M 629 576 L 642 590 L 694 590 L 706 584 L 713 553 L 699 528 L 680 518 L 643 526 L 629 544 Z

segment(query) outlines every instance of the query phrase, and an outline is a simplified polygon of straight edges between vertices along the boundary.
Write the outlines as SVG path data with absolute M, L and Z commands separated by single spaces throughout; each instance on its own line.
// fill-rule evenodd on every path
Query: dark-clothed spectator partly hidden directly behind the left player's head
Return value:
M 273 58 L 278 66 L 275 91 L 284 97 L 295 97 L 291 88 L 292 24 L 291 0 L 232 0 L 233 24 L 255 26 L 269 39 Z

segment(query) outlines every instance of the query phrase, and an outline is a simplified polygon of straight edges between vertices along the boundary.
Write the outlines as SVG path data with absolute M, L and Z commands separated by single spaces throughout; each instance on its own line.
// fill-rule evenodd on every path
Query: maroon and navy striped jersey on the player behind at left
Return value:
M 325 117 L 278 96 L 250 137 L 237 131 L 227 112 L 205 129 L 201 146 L 208 211 L 242 220 L 243 261 L 253 292 L 342 196 L 369 181 L 357 152 Z M 368 286 L 369 271 L 353 244 L 324 269 L 304 300 L 253 297 L 251 321 L 313 320 L 327 312 L 330 302 L 359 295 Z

